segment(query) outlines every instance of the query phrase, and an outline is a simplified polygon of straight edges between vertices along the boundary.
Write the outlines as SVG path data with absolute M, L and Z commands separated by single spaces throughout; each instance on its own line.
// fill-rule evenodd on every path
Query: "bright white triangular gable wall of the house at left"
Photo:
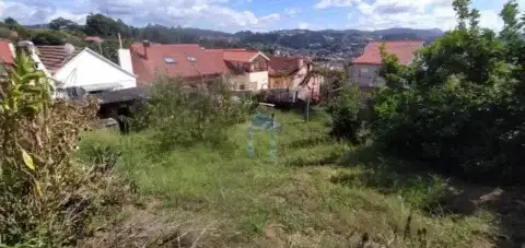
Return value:
M 52 78 L 60 88 L 84 87 L 98 91 L 137 86 L 137 79 L 132 72 L 120 68 L 89 48 L 82 50 L 60 68 Z M 89 90 L 86 91 L 89 92 Z

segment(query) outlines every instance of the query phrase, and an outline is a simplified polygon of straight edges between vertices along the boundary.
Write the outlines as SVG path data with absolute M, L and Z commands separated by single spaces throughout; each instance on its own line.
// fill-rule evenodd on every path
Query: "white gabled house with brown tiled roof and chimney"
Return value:
M 118 51 L 120 59 L 130 58 L 126 52 L 129 55 L 126 49 Z M 55 97 L 74 98 L 84 93 L 137 87 L 131 61 L 120 61 L 125 69 L 90 48 L 74 49 L 69 44 L 37 46 L 35 57 L 55 81 Z

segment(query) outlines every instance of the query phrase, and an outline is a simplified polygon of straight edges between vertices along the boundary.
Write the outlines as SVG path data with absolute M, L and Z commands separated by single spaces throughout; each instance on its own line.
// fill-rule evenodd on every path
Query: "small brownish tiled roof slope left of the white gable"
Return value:
M 55 74 L 82 51 L 81 49 L 75 49 L 73 54 L 68 55 L 63 46 L 37 46 L 36 48 L 38 49 L 38 58 L 40 58 L 51 74 Z

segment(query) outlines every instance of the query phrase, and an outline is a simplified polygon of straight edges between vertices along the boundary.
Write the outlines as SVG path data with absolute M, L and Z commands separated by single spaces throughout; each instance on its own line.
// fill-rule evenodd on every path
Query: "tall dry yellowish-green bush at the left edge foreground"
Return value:
M 0 246 L 73 245 L 98 206 L 124 196 L 110 176 L 71 161 L 96 104 L 51 101 L 23 52 L 0 88 Z

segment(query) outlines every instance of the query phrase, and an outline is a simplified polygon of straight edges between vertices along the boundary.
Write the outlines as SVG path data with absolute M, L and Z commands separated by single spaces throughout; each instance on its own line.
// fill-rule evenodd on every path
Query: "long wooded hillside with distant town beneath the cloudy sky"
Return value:
M 371 40 L 421 39 L 431 43 L 443 35 L 440 29 L 412 29 L 395 27 L 378 31 L 359 29 L 281 29 L 271 32 L 243 31 L 226 33 L 180 26 L 149 24 L 143 27 L 131 26 L 121 20 L 114 20 L 103 14 L 90 14 L 85 25 L 78 25 L 70 20 L 57 19 L 57 25 L 38 24 L 16 27 L 19 39 L 32 39 L 35 45 L 61 45 L 71 43 L 74 46 L 90 46 L 98 50 L 96 44 L 84 42 L 85 36 L 96 35 L 104 38 L 103 55 L 117 61 L 115 50 L 118 48 L 117 34 L 121 35 L 124 46 L 148 39 L 161 44 L 195 44 L 205 48 L 255 48 L 268 54 L 282 56 L 304 56 L 316 61 L 328 61 L 331 64 L 343 64 L 350 58 L 362 52 Z M 72 23 L 74 25 L 72 25 Z M 54 27 L 55 26 L 55 27 Z M 55 28 L 57 31 L 51 31 Z M 9 32 L 1 36 L 9 36 Z M 331 64 L 329 64 L 331 67 Z

